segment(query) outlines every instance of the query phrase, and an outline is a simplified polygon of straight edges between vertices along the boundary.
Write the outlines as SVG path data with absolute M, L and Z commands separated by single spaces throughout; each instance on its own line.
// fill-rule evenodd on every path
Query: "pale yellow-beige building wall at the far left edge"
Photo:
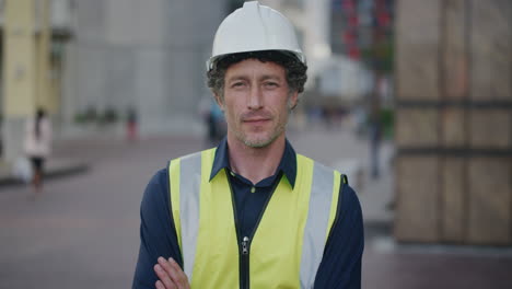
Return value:
M 3 8 L 2 158 L 13 162 L 23 154 L 25 119 L 57 103 L 48 92 L 48 0 L 5 0 Z

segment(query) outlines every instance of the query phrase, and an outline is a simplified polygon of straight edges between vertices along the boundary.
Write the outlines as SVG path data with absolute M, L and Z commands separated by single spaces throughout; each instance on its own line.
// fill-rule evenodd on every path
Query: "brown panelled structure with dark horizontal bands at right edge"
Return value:
M 397 4 L 395 235 L 512 245 L 512 2 Z

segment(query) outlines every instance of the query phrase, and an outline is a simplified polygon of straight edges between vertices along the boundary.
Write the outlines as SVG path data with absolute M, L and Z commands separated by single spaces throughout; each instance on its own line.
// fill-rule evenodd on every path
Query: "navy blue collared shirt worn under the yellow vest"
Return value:
M 233 189 L 240 233 L 251 235 L 278 182 L 284 177 L 291 187 L 295 185 L 296 154 L 287 140 L 275 174 L 253 184 L 231 170 L 224 138 L 217 149 L 210 178 L 221 170 L 226 170 Z M 146 188 L 140 208 L 140 248 L 132 288 L 155 288 L 158 277 L 153 266 L 159 256 L 173 257 L 183 264 L 171 213 L 168 187 L 168 172 L 163 169 Z M 349 185 L 342 185 L 340 190 L 338 216 L 316 274 L 315 288 L 361 288 L 361 258 L 364 247 L 361 206 Z

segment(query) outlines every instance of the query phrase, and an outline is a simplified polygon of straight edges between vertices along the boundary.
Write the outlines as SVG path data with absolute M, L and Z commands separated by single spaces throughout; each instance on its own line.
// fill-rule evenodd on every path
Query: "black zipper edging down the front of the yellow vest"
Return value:
M 231 190 L 231 205 L 233 206 L 233 216 L 234 216 L 234 222 L 235 222 L 235 231 L 236 231 L 236 238 L 238 240 L 238 270 L 240 270 L 240 289 L 249 289 L 249 253 L 251 253 L 251 241 L 256 233 L 256 229 L 258 229 L 259 221 L 261 221 L 263 215 L 265 213 L 265 210 L 267 209 L 267 205 L 272 198 L 274 192 L 276 192 L 277 186 L 281 182 L 282 177 L 282 172 L 279 172 L 279 175 L 277 176 L 276 184 L 274 184 L 272 190 L 270 190 L 270 196 L 268 196 L 267 200 L 265 201 L 265 205 L 261 209 L 261 212 L 259 213 L 258 220 L 256 221 L 256 224 L 254 226 L 253 232 L 251 232 L 249 236 L 244 235 L 242 238 L 242 234 L 240 232 L 240 226 L 238 226 L 238 217 L 236 215 L 236 208 L 235 208 L 235 198 L 234 198 L 234 192 L 233 187 L 231 187 L 231 181 L 229 180 L 229 172 L 228 169 L 224 169 L 225 175 L 228 177 L 228 184 L 230 185 L 230 190 Z

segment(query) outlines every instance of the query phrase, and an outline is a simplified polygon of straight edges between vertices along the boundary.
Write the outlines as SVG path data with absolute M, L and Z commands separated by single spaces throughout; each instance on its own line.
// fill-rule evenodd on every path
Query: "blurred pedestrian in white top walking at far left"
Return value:
M 45 161 L 51 150 L 51 123 L 44 108 L 38 108 L 34 117 L 27 118 L 23 144 L 32 163 L 34 192 L 39 193 L 43 189 Z

